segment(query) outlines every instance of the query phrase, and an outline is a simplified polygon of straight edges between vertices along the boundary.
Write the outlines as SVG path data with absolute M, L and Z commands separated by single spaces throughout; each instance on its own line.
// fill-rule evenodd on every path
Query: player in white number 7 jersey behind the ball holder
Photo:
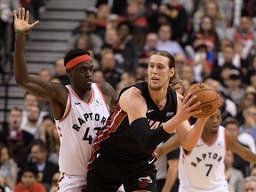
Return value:
M 224 157 L 231 150 L 245 160 L 256 164 L 256 155 L 237 142 L 234 135 L 220 125 L 220 110 L 208 118 L 201 139 L 191 151 L 180 148 L 179 192 L 228 192 Z M 179 148 L 177 136 L 156 149 L 159 156 Z

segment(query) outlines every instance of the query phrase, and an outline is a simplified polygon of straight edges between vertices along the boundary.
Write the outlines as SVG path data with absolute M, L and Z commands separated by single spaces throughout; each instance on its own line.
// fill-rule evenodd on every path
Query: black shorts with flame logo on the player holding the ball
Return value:
M 85 192 L 115 192 L 122 184 L 125 192 L 156 192 L 156 156 L 136 162 L 120 160 L 100 150 L 94 156 Z

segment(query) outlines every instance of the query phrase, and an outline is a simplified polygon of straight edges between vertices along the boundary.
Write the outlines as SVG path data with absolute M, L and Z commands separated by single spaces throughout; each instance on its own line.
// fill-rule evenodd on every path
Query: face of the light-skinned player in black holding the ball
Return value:
M 161 90 L 169 84 L 174 68 L 169 68 L 170 60 L 162 55 L 152 55 L 148 62 L 148 84 L 153 90 Z

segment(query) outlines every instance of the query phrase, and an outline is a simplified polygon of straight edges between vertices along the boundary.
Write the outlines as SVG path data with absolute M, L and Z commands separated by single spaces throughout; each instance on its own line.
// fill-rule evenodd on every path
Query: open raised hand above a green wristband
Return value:
M 32 28 L 35 28 L 36 25 L 39 23 L 38 20 L 36 20 L 34 23 L 29 24 L 28 20 L 29 20 L 29 12 L 25 11 L 25 8 L 22 7 L 18 9 L 18 12 L 16 12 L 16 10 L 13 11 L 13 15 L 14 15 L 14 29 L 15 30 L 23 30 L 26 33 L 28 33 L 28 31 L 30 31 Z

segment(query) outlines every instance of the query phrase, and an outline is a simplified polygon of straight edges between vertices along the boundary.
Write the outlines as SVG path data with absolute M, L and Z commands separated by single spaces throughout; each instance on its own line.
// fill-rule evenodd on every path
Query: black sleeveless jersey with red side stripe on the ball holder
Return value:
M 159 110 L 149 95 L 148 83 L 142 82 L 133 86 L 140 89 L 142 96 L 147 102 L 148 112 L 146 116 L 150 129 L 156 129 L 176 114 L 177 96 L 171 87 L 168 88 L 168 98 L 165 108 Z M 124 88 L 120 95 L 128 88 Z M 132 102 L 132 100 L 128 102 Z M 148 153 L 140 148 L 138 141 L 131 131 L 127 113 L 120 108 L 118 103 L 113 114 L 108 118 L 106 128 L 104 132 L 100 133 L 97 142 L 95 141 L 93 147 L 94 152 L 100 148 L 101 151 L 107 153 L 109 156 L 126 161 L 140 161 L 150 156 L 150 154 L 148 155 Z M 93 158 L 92 156 L 92 160 Z

